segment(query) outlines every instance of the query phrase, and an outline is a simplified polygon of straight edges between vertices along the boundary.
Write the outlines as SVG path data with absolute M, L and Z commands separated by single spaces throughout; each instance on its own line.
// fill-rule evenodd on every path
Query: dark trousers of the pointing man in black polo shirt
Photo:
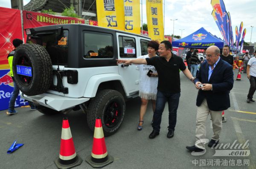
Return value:
M 160 124 L 162 120 L 163 110 L 168 101 L 169 107 L 169 130 L 175 130 L 177 121 L 177 109 L 180 100 L 180 93 L 167 93 L 157 91 L 156 109 L 154 111 L 153 130 L 160 132 Z

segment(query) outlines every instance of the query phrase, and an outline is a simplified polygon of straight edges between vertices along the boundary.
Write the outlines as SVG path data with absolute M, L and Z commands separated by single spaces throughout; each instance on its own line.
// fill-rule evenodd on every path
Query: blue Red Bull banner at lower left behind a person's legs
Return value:
M 6 110 L 13 92 L 13 80 L 9 69 L 0 70 L 0 110 Z M 15 107 L 25 106 L 28 102 L 20 98 L 15 101 Z

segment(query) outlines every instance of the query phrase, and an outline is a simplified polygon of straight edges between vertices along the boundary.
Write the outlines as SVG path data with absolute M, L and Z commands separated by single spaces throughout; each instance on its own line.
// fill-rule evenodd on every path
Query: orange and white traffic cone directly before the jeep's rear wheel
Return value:
M 107 152 L 100 117 L 96 118 L 92 154 L 88 155 L 85 161 L 93 168 L 102 168 L 113 162 L 113 157 Z

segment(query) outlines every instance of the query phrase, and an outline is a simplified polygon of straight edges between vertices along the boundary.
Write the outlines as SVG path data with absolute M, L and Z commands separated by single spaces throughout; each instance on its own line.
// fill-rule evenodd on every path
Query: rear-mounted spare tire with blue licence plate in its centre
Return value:
M 49 89 L 52 83 L 52 61 L 43 46 L 20 45 L 16 49 L 12 63 L 14 79 L 22 93 L 34 96 L 45 93 Z M 27 70 L 29 73 L 24 75 Z

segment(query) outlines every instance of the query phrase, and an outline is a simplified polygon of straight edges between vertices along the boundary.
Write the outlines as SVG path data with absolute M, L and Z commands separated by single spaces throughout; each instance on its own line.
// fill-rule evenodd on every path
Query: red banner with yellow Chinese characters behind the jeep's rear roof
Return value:
M 69 23 L 84 23 L 84 19 L 74 17 L 56 17 L 50 14 L 23 11 L 23 28 L 35 28 L 39 26 L 69 24 Z M 24 31 L 26 41 L 26 33 Z

